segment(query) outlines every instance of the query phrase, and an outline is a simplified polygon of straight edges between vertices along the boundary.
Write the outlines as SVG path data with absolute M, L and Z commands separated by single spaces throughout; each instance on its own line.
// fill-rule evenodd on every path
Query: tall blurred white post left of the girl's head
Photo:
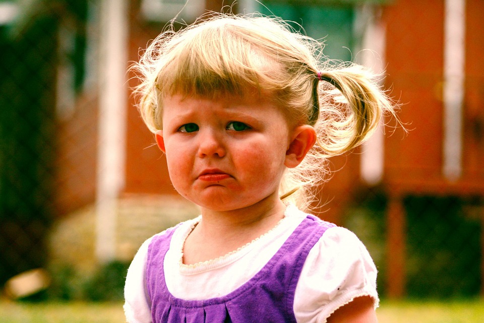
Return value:
M 99 37 L 99 121 L 96 196 L 96 256 L 116 253 L 117 199 L 125 184 L 128 4 L 102 0 Z

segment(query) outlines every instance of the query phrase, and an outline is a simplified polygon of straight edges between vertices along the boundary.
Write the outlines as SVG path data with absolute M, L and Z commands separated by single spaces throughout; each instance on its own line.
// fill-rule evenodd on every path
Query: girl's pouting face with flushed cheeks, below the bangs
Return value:
M 156 139 L 175 189 L 214 211 L 278 199 L 292 132 L 273 101 L 255 94 L 166 97 Z

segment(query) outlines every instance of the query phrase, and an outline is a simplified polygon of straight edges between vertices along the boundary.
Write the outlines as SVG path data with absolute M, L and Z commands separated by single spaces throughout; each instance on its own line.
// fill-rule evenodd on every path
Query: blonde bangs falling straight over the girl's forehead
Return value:
M 279 64 L 264 48 L 255 47 L 250 35 L 221 22 L 189 29 L 183 41 L 172 38 L 165 48 L 165 63 L 156 87 L 161 96 L 183 93 L 213 97 L 243 95 L 244 89 L 280 89 L 274 78 Z M 279 71 L 278 71 L 279 70 Z

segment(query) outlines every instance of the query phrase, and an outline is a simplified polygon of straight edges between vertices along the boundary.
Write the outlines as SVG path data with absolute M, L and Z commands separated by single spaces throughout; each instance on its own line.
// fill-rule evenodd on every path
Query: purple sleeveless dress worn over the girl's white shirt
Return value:
M 175 228 L 155 236 L 146 263 L 153 322 L 295 323 L 294 292 L 302 266 L 311 248 L 333 226 L 308 215 L 252 279 L 225 296 L 205 300 L 184 300 L 170 294 L 162 269 Z

